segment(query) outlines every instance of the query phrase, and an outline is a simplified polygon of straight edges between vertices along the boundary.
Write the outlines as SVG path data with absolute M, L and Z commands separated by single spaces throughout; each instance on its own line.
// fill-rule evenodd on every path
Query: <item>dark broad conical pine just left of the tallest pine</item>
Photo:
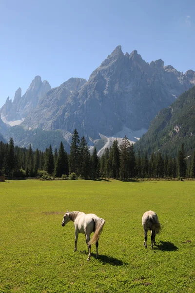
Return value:
M 68 156 L 66 151 L 64 150 L 63 143 L 60 143 L 59 146 L 59 153 L 58 159 L 55 166 L 55 176 L 61 177 L 61 175 L 68 175 L 69 174 L 69 167 L 68 167 Z

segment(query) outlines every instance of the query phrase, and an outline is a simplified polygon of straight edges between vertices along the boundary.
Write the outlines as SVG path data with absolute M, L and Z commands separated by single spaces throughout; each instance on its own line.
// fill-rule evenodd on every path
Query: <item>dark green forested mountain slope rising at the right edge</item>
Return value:
M 195 149 L 195 86 L 158 113 L 135 148 L 148 154 L 160 150 L 176 156 L 182 143 L 187 154 L 192 154 Z

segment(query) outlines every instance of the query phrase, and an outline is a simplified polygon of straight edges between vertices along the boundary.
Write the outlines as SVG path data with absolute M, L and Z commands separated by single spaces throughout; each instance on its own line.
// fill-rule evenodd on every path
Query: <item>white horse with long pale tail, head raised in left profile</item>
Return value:
M 96 258 L 98 258 L 98 239 L 102 231 L 105 220 L 98 218 L 95 214 L 85 214 L 81 211 L 67 211 L 63 217 L 61 223 L 62 226 L 65 226 L 69 221 L 74 222 L 75 227 L 75 249 L 77 251 L 77 240 L 78 233 L 85 234 L 86 244 L 88 246 L 88 261 L 91 258 L 91 244 L 96 243 Z M 94 232 L 94 235 L 90 241 L 90 235 Z

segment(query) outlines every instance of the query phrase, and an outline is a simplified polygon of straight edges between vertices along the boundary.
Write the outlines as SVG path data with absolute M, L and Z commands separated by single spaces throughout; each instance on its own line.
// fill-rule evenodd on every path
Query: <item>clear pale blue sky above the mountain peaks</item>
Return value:
M 195 0 L 0 0 L 0 107 L 36 75 L 88 79 L 117 45 L 195 70 Z

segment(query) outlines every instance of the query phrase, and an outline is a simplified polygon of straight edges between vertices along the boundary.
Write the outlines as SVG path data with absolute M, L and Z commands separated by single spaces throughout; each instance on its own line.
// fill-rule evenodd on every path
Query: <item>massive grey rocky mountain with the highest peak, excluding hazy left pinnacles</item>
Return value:
M 159 110 L 195 84 L 195 72 L 183 74 L 161 59 L 146 63 L 136 50 L 123 54 L 117 46 L 88 82 L 73 90 L 66 83 L 48 91 L 21 125 L 65 135 L 77 128 L 93 140 L 124 129 L 144 132 Z

